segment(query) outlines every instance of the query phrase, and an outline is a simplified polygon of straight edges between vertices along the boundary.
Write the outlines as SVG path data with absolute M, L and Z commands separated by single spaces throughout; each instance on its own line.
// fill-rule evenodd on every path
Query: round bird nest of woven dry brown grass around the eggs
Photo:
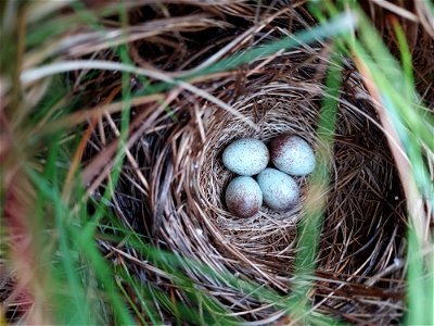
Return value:
M 219 10 L 231 14 L 230 7 Z M 254 21 L 256 14 L 253 10 L 244 15 Z M 293 26 L 306 25 L 295 11 L 283 12 L 279 18 L 289 17 Z M 276 26 L 266 34 L 268 39 L 280 36 L 282 29 Z M 200 33 L 197 37 L 201 45 L 184 49 L 192 57 L 202 53 L 194 58 L 197 62 L 225 46 L 213 39 L 205 41 Z M 242 51 L 252 46 L 239 42 L 235 48 Z M 155 54 L 155 66 L 161 65 L 164 46 L 148 42 L 145 48 L 153 49 L 148 53 Z M 140 55 L 139 50 L 135 53 Z M 319 42 L 280 51 L 235 71 L 199 77 L 193 80 L 197 91 L 174 88 L 132 112 L 132 124 L 140 135 L 130 146 L 133 160 L 123 165 L 113 200 L 116 214 L 153 244 L 205 266 L 186 263 L 182 274 L 214 296 L 229 315 L 246 322 L 270 323 L 282 314 L 273 304 L 237 290 L 207 271 L 290 293 L 297 227 L 306 209 L 310 177 L 296 179 L 302 200 L 292 211 L 263 206 L 256 215 L 239 218 L 225 205 L 225 189 L 234 175 L 224 168 L 221 153 L 242 137 L 268 142 L 288 133 L 302 136 L 315 148 L 328 53 L 327 46 Z M 165 68 L 196 64 L 193 59 L 188 66 L 176 58 L 170 60 Z M 398 321 L 404 310 L 399 260 L 405 247 L 404 198 L 362 78 L 349 61 L 344 67 L 333 153 L 328 158 L 331 180 L 322 193 L 327 205 L 309 299 L 315 310 L 347 322 L 385 325 Z M 106 130 L 111 130 L 108 124 Z M 91 155 L 89 150 L 87 158 Z M 159 289 L 170 288 L 162 281 L 166 277 L 163 271 L 138 263 L 144 258 L 137 251 L 126 251 L 131 271 Z M 189 302 L 180 288 L 170 291 Z

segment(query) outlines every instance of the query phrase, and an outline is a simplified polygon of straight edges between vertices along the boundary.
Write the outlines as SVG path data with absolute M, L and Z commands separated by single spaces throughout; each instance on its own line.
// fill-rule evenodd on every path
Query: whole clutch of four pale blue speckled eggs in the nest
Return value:
M 276 168 L 267 167 L 270 161 Z M 276 211 L 294 208 L 299 189 L 292 176 L 307 175 L 316 164 L 309 143 L 295 135 L 273 138 L 269 149 L 258 139 L 238 139 L 225 149 L 222 162 L 239 175 L 229 183 L 225 195 L 228 210 L 239 217 L 255 215 L 263 201 Z

